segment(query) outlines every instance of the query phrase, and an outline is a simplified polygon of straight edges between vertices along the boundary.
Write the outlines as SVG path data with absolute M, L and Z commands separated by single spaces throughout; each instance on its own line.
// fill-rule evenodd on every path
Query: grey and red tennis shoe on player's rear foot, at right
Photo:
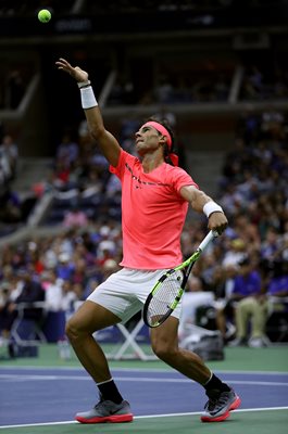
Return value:
M 206 395 L 209 400 L 201 416 L 202 422 L 222 422 L 229 417 L 231 410 L 236 410 L 241 404 L 241 399 L 233 390 L 221 393 L 220 391 L 208 391 Z

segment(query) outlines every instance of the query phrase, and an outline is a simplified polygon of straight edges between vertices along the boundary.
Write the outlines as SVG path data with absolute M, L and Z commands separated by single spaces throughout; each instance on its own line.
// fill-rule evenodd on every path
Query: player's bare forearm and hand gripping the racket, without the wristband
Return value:
M 192 209 L 197 213 L 203 213 L 203 206 L 209 202 L 213 202 L 213 200 L 203 191 L 198 190 L 192 186 L 183 187 L 180 189 L 180 195 L 190 203 Z M 221 234 L 227 228 L 227 225 L 228 220 L 224 213 L 214 212 L 210 214 L 208 220 L 209 229 L 216 230 Z

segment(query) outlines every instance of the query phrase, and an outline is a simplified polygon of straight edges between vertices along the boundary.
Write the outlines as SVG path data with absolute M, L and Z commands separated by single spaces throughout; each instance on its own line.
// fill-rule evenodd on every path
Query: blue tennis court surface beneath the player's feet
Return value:
M 113 369 L 120 388 L 136 417 L 201 412 L 201 386 L 172 370 Z M 241 410 L 288 409 L 288 373 L 221 372 L 241 396 Z M 72 421 L 90 408 L 97 390 L 80 368 L 2 367 L 0 425 Z

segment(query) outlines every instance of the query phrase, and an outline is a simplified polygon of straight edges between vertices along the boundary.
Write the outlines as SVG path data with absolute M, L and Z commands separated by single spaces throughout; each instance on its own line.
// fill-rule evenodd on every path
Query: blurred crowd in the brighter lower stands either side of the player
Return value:
M 123 136 L 129 151 L 132 124 L 124 124 Z M 215 197 L 229 227 L 193 268 L 184 297 L 180 333 L 192 322 L 216 328 L 230 345 L 263 346 L 268 342 L 265 326 L 275 309 L 275 297 L 277 309 L 287 309 L 287 131 L 283 113 L 250 113 L 240 118 Z M 120 183 L 109 174 L 85 124 L 79 132 L 80 145 L 67 135 L 63 137 L 50 180 L 41 186 L 41 194 L 53 188 L 62 204 L 67 199 L 61 232 L 9 244 L 1 252 L 0 330 L 4 336 L 10 334 L 17 303 L 45 301 L 48 310 L 66 310 L 118 269 Z M 79 206 L 79 199 L 89 203 L 91 197 L 96 202 L 89 209 L 97 212 L 89 214 Z M 103 206 L 103 197 L 111 199 L 117 213 L 110 212 L 108 202 Z M 181 237 L 185 257 L 205 232 L 204 216 L 189 216 Z M 208 308 L 213 309 L 213 324 L 208 324 Z

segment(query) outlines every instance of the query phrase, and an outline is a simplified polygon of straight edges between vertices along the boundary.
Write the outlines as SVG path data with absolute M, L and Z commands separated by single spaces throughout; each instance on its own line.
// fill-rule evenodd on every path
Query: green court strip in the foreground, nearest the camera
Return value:
M 61 423 L 1 429 L 1 434 L 284 434 L 287 410 L 235 411 L 220 423 L 202 423 L 198 414 L 136 418 L 132 423 L 93 424 Z

